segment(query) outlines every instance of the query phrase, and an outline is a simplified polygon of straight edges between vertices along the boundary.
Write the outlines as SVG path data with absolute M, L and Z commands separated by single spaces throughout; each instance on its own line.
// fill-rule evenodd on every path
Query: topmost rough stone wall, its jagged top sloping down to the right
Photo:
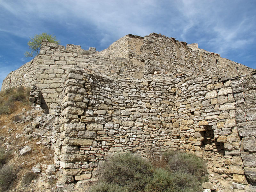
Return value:
M 250 73 L 252 70 L 244 65 L 221 58 L 216 53 L 203 49 L 191 49 L 186 42 L 179 42 L 160 34 L 144 37 L 141 46 L 141 59 L 145 61 L 146 70 L 207 74 L 233 77 Z

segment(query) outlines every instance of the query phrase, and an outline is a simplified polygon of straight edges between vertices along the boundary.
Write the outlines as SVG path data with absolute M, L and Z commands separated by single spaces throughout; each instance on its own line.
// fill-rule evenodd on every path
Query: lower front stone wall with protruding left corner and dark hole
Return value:
M 163 77 L 120 82 L 83 68 L 71 70 L 56 128 L 55 164 L 63 172 L 62 186 L 76 183 L 78 188 L 95 179 L 109 154 L 149 157 L 170 149 L 206 159 L 220 190 L 244 191 L 256 181 L 256 102 L 249 99 L 256 94 L 255 74 Z

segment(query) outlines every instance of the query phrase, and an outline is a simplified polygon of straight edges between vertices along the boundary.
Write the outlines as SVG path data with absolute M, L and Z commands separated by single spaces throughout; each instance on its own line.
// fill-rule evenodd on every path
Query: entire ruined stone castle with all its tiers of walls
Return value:
M 256 190 L 254 69 L 155 33 L 89 52 L 42 42 L 2 85 L 31 87 L 30 101 L 56 116 L 59 187 L 94 180 L 109 154 L 172 149 L 206 159 L 215 188 Z

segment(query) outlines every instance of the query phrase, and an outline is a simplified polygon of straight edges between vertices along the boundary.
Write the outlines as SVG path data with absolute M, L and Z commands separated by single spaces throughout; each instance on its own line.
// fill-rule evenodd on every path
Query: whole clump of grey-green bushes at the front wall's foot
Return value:
M 100 166 L 100 172 L 90 192 L 203 191 L 202 182 L 208 178 L 203 159 L 179 151 L 156 156 L 152 163 L 131 153 L 118 153 Z

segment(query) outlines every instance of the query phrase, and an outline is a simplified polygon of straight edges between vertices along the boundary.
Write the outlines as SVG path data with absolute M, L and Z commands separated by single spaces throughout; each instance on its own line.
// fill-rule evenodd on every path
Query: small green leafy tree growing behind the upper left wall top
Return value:
M 30 41 L 28 41 L 28 48 L 30 49 L 30 52 L 25 52 L 25 57 L 36 57 L 40 52 L 43 39 L 46 39 L 50 43 L 60 43 L 59 40 L 56 40 L 56 36 L 48 35 L 47 33 L 35 35 L 34 37 L 30 37 Z

